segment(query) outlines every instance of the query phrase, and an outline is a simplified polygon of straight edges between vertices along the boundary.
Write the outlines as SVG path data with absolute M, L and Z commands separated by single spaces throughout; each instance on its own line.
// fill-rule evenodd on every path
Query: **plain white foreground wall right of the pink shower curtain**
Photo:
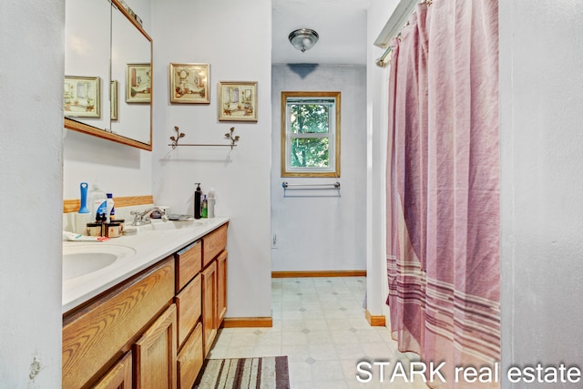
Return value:
M 499 7 L 502 361 L 580 367 L 583 8 Z

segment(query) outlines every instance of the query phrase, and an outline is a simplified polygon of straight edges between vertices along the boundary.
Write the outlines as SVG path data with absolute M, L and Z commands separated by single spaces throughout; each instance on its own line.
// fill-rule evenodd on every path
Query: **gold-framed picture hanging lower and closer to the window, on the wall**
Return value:
M 257 121 L 257 82 L 219 83 L 220 121 Z

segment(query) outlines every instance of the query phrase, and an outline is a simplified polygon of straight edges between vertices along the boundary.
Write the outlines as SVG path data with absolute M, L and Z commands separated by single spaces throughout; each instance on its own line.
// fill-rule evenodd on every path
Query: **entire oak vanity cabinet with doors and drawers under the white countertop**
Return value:
M 63 388 L 192 388 L 227 311 L 227 227 L 66 312 Z

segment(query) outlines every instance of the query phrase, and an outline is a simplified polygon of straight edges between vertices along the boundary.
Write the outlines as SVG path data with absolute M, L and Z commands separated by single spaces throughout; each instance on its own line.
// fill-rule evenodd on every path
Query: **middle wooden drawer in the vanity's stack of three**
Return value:
M 196 276 L 176 295 L 176 306 L 179 310 L 179 347 L 194 328 L 194 324 L 199 321 L 202 312 L 200 279 L 200 275 Z

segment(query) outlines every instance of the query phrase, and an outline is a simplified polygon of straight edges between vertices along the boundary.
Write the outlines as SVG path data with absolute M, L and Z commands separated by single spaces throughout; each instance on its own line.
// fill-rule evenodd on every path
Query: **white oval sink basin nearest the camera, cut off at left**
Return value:
M 70 280 L 106 268 L 136 251 L 126 246 L 102 243 L 65 246 L 63 248 L 63 280 Z

